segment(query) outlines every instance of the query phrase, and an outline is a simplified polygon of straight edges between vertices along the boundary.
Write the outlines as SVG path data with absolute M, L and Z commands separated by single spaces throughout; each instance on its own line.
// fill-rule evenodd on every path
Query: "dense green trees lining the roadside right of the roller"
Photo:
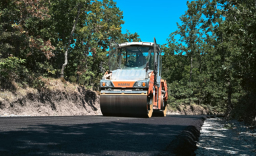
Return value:
M 162 46 L 172 107 L 206 105 L 248 123 L 256 116 L 256 2 L 187 3 Z

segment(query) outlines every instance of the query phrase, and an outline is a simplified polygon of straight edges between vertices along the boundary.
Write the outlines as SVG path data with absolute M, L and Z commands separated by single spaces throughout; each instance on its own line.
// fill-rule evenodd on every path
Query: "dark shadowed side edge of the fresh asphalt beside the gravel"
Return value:
M 200 130 L 206 119 L 214 118 L 216 116 L 202 116 L 193 125 L 186 127 L 170 144 L 162 150 L 158 155 L 195 155 L 197 149 L 197 141 L 199 141 Z

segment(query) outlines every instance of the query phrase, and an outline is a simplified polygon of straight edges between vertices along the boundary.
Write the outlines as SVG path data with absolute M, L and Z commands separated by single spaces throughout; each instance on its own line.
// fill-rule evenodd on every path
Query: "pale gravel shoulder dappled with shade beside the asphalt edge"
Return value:
M 207 119 L 197 148 L 196 155 L 256 155 L 256 130 L 238 121 Z

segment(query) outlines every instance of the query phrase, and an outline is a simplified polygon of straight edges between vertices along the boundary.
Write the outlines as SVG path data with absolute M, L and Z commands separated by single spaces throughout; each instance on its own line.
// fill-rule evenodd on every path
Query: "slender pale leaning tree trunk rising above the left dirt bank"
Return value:
M 75 31 L 75 26 L 80 14 L 80 9 L 81 9 L 81 5 L 78 5 L 77 17 L 75 17 L 75 22 L 73 23 L 72 31 L 69 35 L 69 43 L 67 44 L 67 50 L 65 52 L 65 63 L 62 65 L 62 68 L 61 68 L 61 78 L 64 78 L 64 69 L 65 69 L 65 66 L 67 66 L 67 52 L 69 51 L 70 43 L 73 37 L 73 32 Z

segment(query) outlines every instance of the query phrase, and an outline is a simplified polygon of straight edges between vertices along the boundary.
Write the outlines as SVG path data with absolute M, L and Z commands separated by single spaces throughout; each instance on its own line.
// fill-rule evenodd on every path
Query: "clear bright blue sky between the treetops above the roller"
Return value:
M 139 33 L 142 42 L 166 44 L 168 35 L 177 29 L 179 17 L 187 11 L 187 0 L 114 0 L 123 11 L 122 32 Z

